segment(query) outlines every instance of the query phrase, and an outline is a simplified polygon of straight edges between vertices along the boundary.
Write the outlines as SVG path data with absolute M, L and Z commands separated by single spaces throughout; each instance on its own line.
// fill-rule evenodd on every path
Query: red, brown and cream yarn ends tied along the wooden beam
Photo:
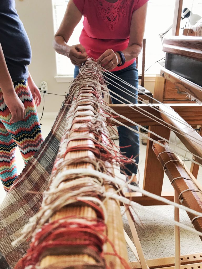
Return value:
M 95 66 L 94 63 L 93 66 Z M 76 254 L 88 252 L 91 256 L 92 254 L 90 253 L 94 253 L 94 259 L 95 253 L 97 253 L 95 259 L 96 268 L 108 267 L 105 264 L 103 252 L 105 243 L 110 241 L 106 231 L 107 211 L 102 202 L 105 199 L 104 193 L 106 190 L 104 183 L 106 182 L 102 178 L 83 176 L 76 173 L 62 176 L 62 172 L 75 163 L 93 164 L 95 171 L 106 173 L 110 176 L 112 172 L 107 171 L 106 163 L 112 165 L 116 162 L 121 167 L 124 167 L 125 164 L 135 163 L 133 157 L 127 158 L 120 153 L 119 148 L 115 147 L 106 131 L 107 118 L 112 117 L 112 115 L 109 115 L 107 104 L 102 101 L 102 91 L 97 91 L 97 83 L 104 84 L 101 76 L 102 72 L 101 70 L 97 72 L 97 68 L 96 73 L 93 72 L 90 62 L 83 67 L 84 72 L 88 73 L 88 77 L 90 77 L 90 80 L 94 79 L 94 82 L 89 81 L 89 79 L 83 79 L 83 76 L 80 74 L 71 85 L 67 101 L 69 104 L 71 103 L 71 108 L 67 115 L 67 123 L 64 130 L 65 135 L 61 141 L 49 188 L 43 194 L 41 210 L 30 219 L 30 223 L 24 227 L 22 235 L 13 242 L 13 245 L 15 245 L 22 238 L 27 236 L 32 237 L 30 249 L 24 259 L 19 261 L 16 269 L 35 269 L 39 266 L 42 257 L 55 255 L 54 248 L 57 247 L 58 255 L 62 253 L 72 254 L 74 252 L 74 246 L 76 246 Z M 78 84 L 80 84 L 79 87 Z M 89 106 L 91 106 L 90 109 Z M 108 124 L 108 126 L 110 125 Z M 84 143 L 77 144 L 77 146 L 72 145 L 74 141 L 80 140 L 84 141 Z M 90 145 L 92 144 L 92 146 L 89 146 L 89 143 L 85 144 L 85 140 L 91 141 L 92 143 Z M 65 159 L 69 153 L 80 151 L 91 151 L 93 157 L 90 161 L 88 156 L 84 158 L 75 157 L 72 160 Z M 115 190 L 119 189 L 118 185 L 113 183 L 111 185 Z M 120 195 L 124 195 L 122 190 L 119 190 L 119 193 Z M 94 226 L 92 224 L 88 226 L 85 223 L 86 226 L 84 227 L 83 219 L 81 218 L 75 218 L 74 223 L 67 220 L 67 218 L 65 220 L 60 219 L 47 223 L 55 212 L 64 206 L 72 204 L 78 206 L 88 205 L 88 207 L 92 208 L 96 213 L 99 229 L 103 227 L 103 232 L 106 233 L 105 237 L 103 234 L 99 234 L 98 236 L 95 233 L 94 223 Z M 112 242 L 109 243 L 113 252 L 107 252 L 107 255 L 116 256 L 124 268 L 129 268 L 127 262 L 116 252 Z M 75 263 L 74 267 L 76 268 L 77 265 Z M 85 268 L 85 266 L 90 268 L 89 266 L 92 265 L 83 262 L 82 267 Z M 64 264 L 61 265 L 61 268 L 66 267 Z

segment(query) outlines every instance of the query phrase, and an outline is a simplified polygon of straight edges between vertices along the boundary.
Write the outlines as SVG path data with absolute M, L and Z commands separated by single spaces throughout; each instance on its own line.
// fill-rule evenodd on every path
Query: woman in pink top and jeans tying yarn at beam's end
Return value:
M 120 79 L 138 87 L 135 58 L 142 49 L 147 2 L 148 0 L 69 0 L 65 16 L 55 34 L 54 48 L 58 53 L 69 57 L 75 65 L 74 77 L 78 75 L 79 66 L 90 56 Z M 80 44 L 69 46 L 68 40 L 82 15 L 84 20 L 79 38 Z M 115 85 L 109 84 L 110 90 L 137 104 L 137 90 L 110 75 L 107 77 L 108 82 Z M 128 95 L 127 91 L 117 89 L 114 82 L 127 87 L 136 98 Z M 117 95 L 113 96 L 117 98 Z M 112 98 L 112 102 L 121 104 L 115 98 Z M 137 126 L 133 126 L 133 129 L 138 130 Z M 129 158 L 136 156 L 138 164 L 140 149 L 138 134 L 123 126 L 120 126 L 118 131 L 120 146 L 131 145 L 123 149 L 123 152 L 127 151 L 126 156 Z M 137 174 L 137 166 L 128 165 L 123 172 L 128 180 L 131 174 Z M 131 184 L 137 186 L 137 179 Z

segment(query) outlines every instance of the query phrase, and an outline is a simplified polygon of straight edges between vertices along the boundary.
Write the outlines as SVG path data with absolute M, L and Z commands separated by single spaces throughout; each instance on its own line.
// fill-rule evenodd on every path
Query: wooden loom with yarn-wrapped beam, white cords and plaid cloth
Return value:
M 1 252 L 3 250 L 0 256 L 1 269 L 10 269 L 15 266 L 16 269 L 146 269 L 148 266 L 151 268 L 174 266 L 174 258 L 145 261 L 130 206 L 141 208 L 149 213 L 151 210 L 142 205 L 170 204 L 175 206 L 175 221 L 168 220 L 175 224 L 175 268 L 180 268 L 180 258 L 184 259 L 180 257 L 179 226 L 202 236 L 201 187 L 175 155 L 184 158 L 186 151 L 180 153 L 181 148 L 172 150 L 168 145 L 168 143 L 172 144 L 169 141 L 169 134 L 170 130 L 173 130 L 193 154 L 194 160 L 190 161 L 195 165 L 202 165 L 202 139 L 189 125 L 202 124 L 201 106 L 198 104 L 173 105 L 174 111 L 172 107 L 163 104 L 124 105 L 124 100 L 123 105 L 108 106 L 103 101 L 103 94 L 108 93 L 102 69 L 89 59 L 72 83 L 68 99 L 58 116 L 61 120 L 58 119 L 52 129 L 54 132 L 57 127 L 60 129 L 60 131 L 57 130 L 58 142 L 53 146 L 55 152 L 57 152 L 60 140 L 61 142 L 56 159 L 54 154 L 50 160 L 46 161 L 50 162 L 51 167 L 55 160 L 51 176 L 49 176 L 50 171 L 44 175 L 43 187 L 37 186 L 34 177 L 29 180 L 28 191 L 30 192 L 24 194 L 25 196 L 22 195 L 23 188 L 18 189 L 18 186 L 21 188 L 20 182 L 23 180 L 19 177 L 0 206 L 0 249 Z M 117 98 L 121 99 L 120 96 Z M 193 112 L 194 116 L 190 116 Z M 66 120 L 65 116 L 67 116 Z M 126 193 L 125 196 L 123 188 L 126 183 L 120 178 L 114 178 L 114 169 L 116 169 L 114 165 L 124 167 L 134 160 L 121 155 L 119 148 L 113 144 L 108 130 L 112 125 L 125 125 L 128 128 L 130 125 L 151 126 L 143 190 L 128 186 L 137 193 Z M 61 137 L 62 129 L 64 132 Z M 184 136 L 185 133 L 187 137 Z M 44 147 L 50 141 L 51 135 L 46 139 L 37 156 L 27 165 L 23 175 L 27 175 L 28 171 L 30 173 L 36 160 L 47 158 L 44 154 Z M 159 174 L 159 177 L 155 179 L 155 182 L 158 182 L 155 187 L 152 182 L 154 169 Z M 173 203 L 173 196 L 161 196 L 164 172 L 175 189 L 176 203 Z M 36 192 L 44 190 L 40 207 L 41 195 Z M 19 201 L 21 201 L 21 206 L 23 201 L 25 202 L 23 204 L 25 212 L 27 212 L 26 203 L 29 204 L 29 202 L 33 204 L 33 210 L 26 213 L 23 221 L 19 220 L 19 223 L 20 221 L 22 223 L 14 224 L 13 222 L 12 224 L 9 216 L 12 207 L 14 208 L 16 202 Z M 119 203 L 124 204 L 126 208 L 136 248 L 123 231 Z M 187 211 L 196 230 L 179 223 L 179 208 Z M 20 210 L 20 205 L 18 210 Z M 12 210 L 13 214 L 17 214 L 16 211 L 16 208 L 15 211 Z M 23 216 L 22 212 L 18 212 L 18 219 L 20 219 L 20 214 Z M 158 215 L 158 212 L 154 211 L 153 214 Z M 17 219 L 16 216 L 14 218 Z M 30 218 L 29 223 L 28 218 Z M 6 222 L 9 224 L 5 229 Z M 23 231 L 21 231 L 22 228 Z M 16 232 L 22 232 L 22 235 Z M 30 236 L 32 243 L 28 249 L 27 239 Z M 126 242 L 133 250 L 138 262 L 128 263 Z M 11 246 L 8 247 L 8 245 Z M 20 260 L 23 256 L 24 258 Z M 200 266 L 201 257 L 197 255 L 194 257 L 194 260 L 191 258 L 186 262 L 183 260 L 182 264 L 189 263 L 190 268 L 193 267 L 192 263 Z

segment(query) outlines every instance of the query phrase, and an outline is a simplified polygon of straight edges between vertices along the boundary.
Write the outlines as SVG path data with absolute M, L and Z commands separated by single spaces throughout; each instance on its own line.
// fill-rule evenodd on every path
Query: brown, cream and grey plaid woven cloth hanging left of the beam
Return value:
M 42 193 L 47 189 L 68 110 L 69 106 L 63 105 L 46 140 L 23 169 L 0 205 L 1 269 L 13 269 L 29 247 L 29 242 L 26 240 L 15 247 L 11 243 L 17 238 L 16 232 L 20 231 L 28 223 L 29 218 L 39 211 L 42 195 L 28 192 Z

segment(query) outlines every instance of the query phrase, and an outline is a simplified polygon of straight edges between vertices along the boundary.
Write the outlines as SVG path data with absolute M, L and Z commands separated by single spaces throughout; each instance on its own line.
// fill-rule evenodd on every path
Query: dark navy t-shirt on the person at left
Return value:
M 15 9 L 15 0 L 0 0 L 0 43 L 13 81 L 28 78 L 32 51 L 29 38 Z

